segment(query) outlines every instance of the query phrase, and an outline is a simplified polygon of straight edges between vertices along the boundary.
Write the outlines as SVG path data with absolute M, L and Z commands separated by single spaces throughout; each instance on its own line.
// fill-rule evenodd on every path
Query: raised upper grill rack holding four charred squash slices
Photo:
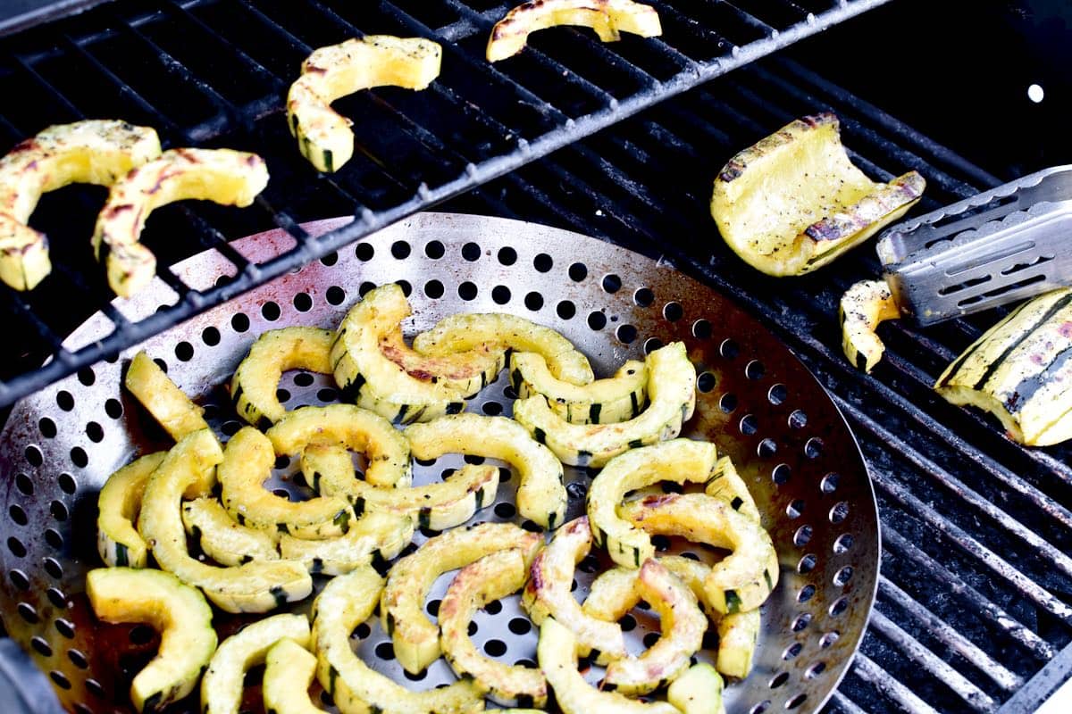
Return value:
M 145 240 L 176 299 L 133 323 L 121 306 L 106 306 L 102 271 L 89 258 L 86 237 L 102 192 L 72 187 L 45 197 L 33 222 L 49 234 L 57 268 L 31 294 L 0 288 L 0 307 L 17 336 L 10 344 L 19 346 L 0 351 L 0 405 L 883 2 L 658 0 L 653 4 L 662 37 L 604 45 L 586 31 L 565 30 L 535 35 L 522 56 L 496 65 L 483 60 L 483 45 L 510 6 L 496 0 L 128 1 L 0 39 L 0 92 L 18 97 L 0 108 L 0 145 L 49 123 L 122 117 L 155 126 L 166 147 L 256 151 L 272 174 L 256 209 L 175 206 L 154 215 Z M 314 47 L 379 32 L 446 41 L 443 75 L 419 94 L 385 89 L 337 103 L 355 119 L 358 145 L 344 170 L 317 174 L 282 119 L 286 89 Z M 339 214 L 356 219 L 315 240 L 297 227 Z M 226 246 L 227 238 L 272 226 L 295 239 L 294 248 L 274 260 L 249 264 Z M 235 277 L 194 291 L 166 265 L 204 248 L 230 259 Z M 59 346 L 62 335 L 102 308 L 116 326 L 109 337 L 74 352 Z

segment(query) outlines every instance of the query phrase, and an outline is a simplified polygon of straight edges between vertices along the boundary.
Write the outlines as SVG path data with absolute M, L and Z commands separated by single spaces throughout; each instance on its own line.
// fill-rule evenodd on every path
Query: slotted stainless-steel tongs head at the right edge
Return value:
M 922 325 L 1072 285 L 1072 165 L 898 224 L 877 249 L 902 315 Z

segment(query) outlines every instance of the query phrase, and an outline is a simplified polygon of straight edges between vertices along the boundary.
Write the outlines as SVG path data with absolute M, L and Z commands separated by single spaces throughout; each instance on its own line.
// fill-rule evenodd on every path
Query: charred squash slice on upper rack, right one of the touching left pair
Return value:
M 108 285 L 129 298 L 155 275 L 155 256 L 138 242 L 154 209 L 185 199 L 245 207 L 266 185 L 264 159 L 230 149 L 170 149 L 132 169 L 111 185 L 93 230 L 93 252 L 105 263 Z

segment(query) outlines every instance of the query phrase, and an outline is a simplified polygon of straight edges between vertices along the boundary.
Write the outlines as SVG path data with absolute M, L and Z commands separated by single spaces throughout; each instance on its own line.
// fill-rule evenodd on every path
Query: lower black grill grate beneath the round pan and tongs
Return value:
M 698 156 L 732 155 L 773 126 L 827 109 L 842 118 L 853 159 L 872 174 L 922 171 L 929 206 L 1000 183 L 778 58 L 448 207 L 559 225 L 669 260 L 764 319 L 834 395 L 868 461 L 883 560 L 868 634 L 828 711 L 1033 711 L 1033 698 L 1072 667 L 1070 451 L 1017 446 L 996 423 L 930 390 L 995 314 L 923 331 L 883 325 L 885 361 L 863 375 L 840 353 L 836 312 L 845 289 L 878 274 L 874 253 L 857 250 L 799 279 L 766 278 L 729 253 L 708 213 L 712 167 Z

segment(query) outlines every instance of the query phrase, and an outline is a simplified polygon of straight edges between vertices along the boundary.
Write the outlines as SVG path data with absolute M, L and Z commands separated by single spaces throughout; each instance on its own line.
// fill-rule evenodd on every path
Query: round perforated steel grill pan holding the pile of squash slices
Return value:
M 344 219 L 307 226 L 311 233 Z M 270 231 L 235 243 L 253 260 L 288 247 Z M 209 252 L 178 267 L 204 287 L 233 267 Z M 206 405 L 209 422 L 229 436 L 239 428 L 222 386 L 252 339 L 289 324 L 337 325 L 375 285 L 398 282 L 410 293 L 408 335 L 459 312 L 509 312 L 559 330 L 609 376 L 628 358 L 682 339 L 697 366 L 699 399 L 685 434 L 717 443 L 736 464 L 774 538 L 781 577 L 763 607 L 751 675 L 726 693 L 731 714 L 815 711 L 834 690 L 859 645 L 875 598 L 879 534 L 875 498 L 859 449 L 837 409 L 795 358 L 753 318 L 710 288 L 628 250 L 536 225 L 500 218 L 426 213 L 243 294 L 143 345 L 168 375 Z M 120 309 L 151 314 L 174 300 L 157 282 Z M 77 347 L 104 334 L 90 319 L 69 339 Z M 0 514 L 0 614 L 77 711 L 129 707 L 130 679 L 151 658 L 158 638 L 145 626 L 96 623 L 84 590 L 99 566 L 96 493 L 132 457 L 169 441 L 121 389 L 123 363 L 84 369 L 16 405 L 0 441 L 5 505 Z M 329 378 L 288 373 L 280 384 L 287 408 L 337 399 Z M 509 414 L 508 380 L 488 385 L 468 409 Z M 418 466 L 415 483 L 438 478 L 461 464 L 445 457 Z M 277 464 L 272 487 L 306 492 L 296 465 Z M 570 516 L 583 511 L 594 474 L 567 469 Z M 475 520 L 517 520 L 516 478 Z M 280 491 L 282 492 L 282 491 Z M 420 533 L 415 543 L 428 534 Z M 704 548 L 662 542 L 671 550 L 712 558 Z M 411 546 L 413 548 L 414 546 Z M 578 568 L 578 597 L 600 569 L 596 558 Z M 449 582 L 432 591 L 430 611 Z M 517 596 L 478 613 L 474 641 L 502 660 L 533 662 L 536 628 Z M 309 603 L 298 608 L 308 609 Z M 221 638 L 249 617 L 218 613 Z M 635 609 L 623 627 L 632 652 L 658 632 L 647 611 Z M 713 631 L 712 631 L 713 632 Z M 420 678 L 403 675 L 389 640 L 370 621 L 354 634 L 358 653 L 376 669 L 414 688 L 452 680 L 445 662 Z M 647 642 L 651 643 L 651 637 Z M 715 643 L 713 637 L 705 647 Z M 709 658 L 710 652 L 700 658 Z M 599 673 L 592 668 L 593 681 Z M 255 699 L 256 694 L 251 696 Z M 185 702 L 197 711 L 197 702 Z M 251 702 L 252 703 L 252 702 Z

